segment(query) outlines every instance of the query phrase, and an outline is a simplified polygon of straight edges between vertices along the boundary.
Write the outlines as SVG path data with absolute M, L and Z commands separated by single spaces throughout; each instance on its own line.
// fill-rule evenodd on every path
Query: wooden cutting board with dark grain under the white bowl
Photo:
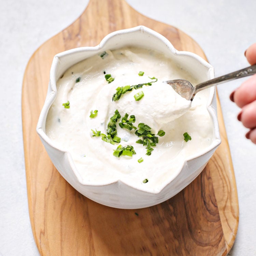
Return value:
M 238 228 L 236 181 L 218 104 L 222 144 L 197 179 L 154 207 L 121 210 L 82 196 L 58 173 L 35 132 L 53 56 L 95 46 L 108 33 L 138 25 L 168 38 L 178 50 L 206 59 L 184 32 L 134 11 L 124 0 L 91 0 L 68 28 L 31 57 L 22 90 L 23 139 L 30 221 L 41 255 L 227 255 Z

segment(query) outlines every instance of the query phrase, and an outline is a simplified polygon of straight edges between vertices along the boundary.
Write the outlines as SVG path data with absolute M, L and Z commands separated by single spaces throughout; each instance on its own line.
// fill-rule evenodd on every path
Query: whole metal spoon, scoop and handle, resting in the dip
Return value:
M 180 96 L 182 96 L 186 100 L 193 100 L 196 93 L 203 89 L 253 74 L 256 74 L 256 64 L 197 84 L 195 87 L 193 87 L 193 85 L 189 81 L 184 79 L 169 80 L 166 82 L 167 84 L 171 85 L 176 93 L 178 93 Z

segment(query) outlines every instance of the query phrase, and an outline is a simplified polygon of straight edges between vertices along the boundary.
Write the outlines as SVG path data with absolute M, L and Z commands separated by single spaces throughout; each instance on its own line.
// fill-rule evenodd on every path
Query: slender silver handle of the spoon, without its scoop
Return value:
M 193 95 L 195 95 L 199 91 L 201 91 L 203 89 L 206 89 L 206 88 L 209 88 L 211 86 L 221 84 L 221 83 L 224 83 L 224 82 L 227 82 L 227 81 L 230 81 L 230 80 L 235 80 L 235 79 L 238 79 L 238 78 L 242 78 L 242 77 L 245 77 L 245 76 L 253 75 L 253 74 L 256 74 L 256 64 L 252 65 L 250 67 L 247 67 L 247 68 L 240 69 L 238 71 L 234 71 L 234 72 L 226 74 L 226 75 L 215 77 L 214 79 L 205 81 L 203 83 L 200 83 L 200 84 L 198 84 L 194 87 Z

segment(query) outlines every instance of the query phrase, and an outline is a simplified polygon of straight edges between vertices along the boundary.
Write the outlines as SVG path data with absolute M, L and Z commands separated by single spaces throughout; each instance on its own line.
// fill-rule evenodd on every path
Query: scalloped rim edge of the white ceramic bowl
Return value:
M 140 187 L 136 187 L 136 186 L 132 186 L 130 184 L 126 184 L 124 181 L 122 181 L 120 179 L 115 179 L 115 180 L 113 180 L 113 182 L 102 183 L 102 184 L 99 184 L 99 183 L 91 184 L 91 183 L 83 182 L 80 174 L 78 173 L 78 171 L 75 167 L 74 162 L 72 161 L 71 154 L 68 151 L 61 150 L 61 148 L 56 147 L 56 145 L 53 143 L 53 141 L 44 132 L 45 120 L 46 120 L 46 117 L 47 117 L 48 110 L 49 110 L 50 106 L 52 105 L 52 103 L 53 103 L 53 101 L 54 101 L 54 99 L 56 98 L 56 95 L 57 95 L 56 72 L 57 72 L 57 69 L 59 67 L 58 65 L 59 65 L 59 62 L 60 62 L 60 58 L 63 57 L 63 56 L 66 56 L 66 55 L 72 55 L 74 53 L 79 53 L 79 52 L 84 52 L 84 51 L 94 52 L 94 54 L 97 54 L 102 50 L 102 48 L 105 46 L 105 44 L 110 39 L 112 39 L 114 36 L 127 34 L 127 33 L 131 33 L 131 32 L 136 32 L 136 31 L 142 31 L 143 33 L 148 33 L 148 34 L 160 39 L 161 41 L 163 41 L 166 44 L 166 46 L 169 48 L 170 52 L 173 55 L 186 56 L 186 57 L 190 56 L 190 57 L 194 58 L 195 60 L 200 62 L 205 68 L 208 69 L 208 73 L 209 73 L 208 75 L 210 76 L 210 78 L 214 77 L 214 69 L 207 61 L 205 61 L 203 58 L 201 58 L 200 56 L 198 56 L 194 53 L 187 52 L 187 51 L 177 51 L 174 48 L 174 46 L 169 42 L 168 39 L 163 37 L 163 35 L 155 32 L 154 30 L 151 30 L 151 29 L 149 29 L 145 26 L 137 26 L 137 27 L 134 27 L 134 28 L 118 30 L 118 31 L 115 31 L 115 32 L 112 32 L 112 33 L 106 35 L 97 46 L 78 47 L 78 48 L 67 50 L 65 52 L 58 53 L 54 56 L 52 66 L 51 66 L 51 70 L 50 70 L 50 81 L 49 81 L 48 92 L 47 92 L 47 95 L 46 95 L 46 99 L 45 99 L 42 111 L 41 111 L 40 116 L 39 116 L 39 120 L 38 120 L 36 130 L 37 130 L 37 133 L 39 134 L 42 141 L 44 141 L 46 144 L 49 144 L 52 148 L 55 148 L 59 152 L 62 152 L 63 155 L 64 154 L 68 155 L 68 159 L 69 159 L 69 162 L 70 162 L 70 167 L 71 167 L 72 171 L 74 172 L 74 174 L 77 178 L 77 181 L 81 185 L 91 187 L 91 186 L 108 186 L 108 185 L 111 185 L 111 184 L 114 184 L 114 183 L 123 183 L 124 185 L 127 185 L 127 186 L 129 186 L 131 188 L 134 188 L 136 190 L 140 190 L 140 191 L 150 193 L 150 194 L 159 194 L 168 184 L 170 184 L 173 180 L 175 180 L 176 176 L 179 175 L 179 173 L 182 171 L 183 167 L 187 164 L 188 161 L 193 160 L 193 159 L 197 159 L 197 158 L 201 157 L 202 155 L 209 153 L 209 151 L 213 151 L 213 153 L 214 153 L 217 146 L 221 143 L 221 137 L 220 137 L 220 134 L 219 134 L 217 115 L 216 115 L 216 111 L 214 110 L 214 107 L 213 107 L 213 105 L 214 105 L 213 102 L 216 101 L 216 98 L 215 98 L 216 89 L 214 87 L 210 88 L 209 99 L 208 99 L 208 102 L 207 102 L 207 109 L 208 109 L 208 112 L 209 112 L 209 114 L 210 114 L 210 116 L 213 120 L 213 126 L 214 126 L 214 138 L 213 138 L 212 144 L 209 147 L 205 148 L 204 152 L 199 152 L 198 154 L 193 155 L 190 158 L 187 158 L 184 161 L 184 164 L 181 167 L 181 169 L 176 172 L 176 175 L 172 176 L 172 179 L 168 180 L 158 191 L 156 191 L 156 193 L 152 193 L 150 191 L 147 191 L 146 188 L 141 189 Z M 92 54 L 92 55 L 94 55 L 94 54 Z M 81 60 L 79 60 L 79 61 L 81 61 Z M 79 61 L 75 61 L 74 63 L 77 63 Z M 72 64 L 72 65 L 74 65 L 74 64 Z M 195 177 L 194 177 L 194 179 L 195 179 Z M 94 199 L 92 199 L 92 200 L 94 200 Z

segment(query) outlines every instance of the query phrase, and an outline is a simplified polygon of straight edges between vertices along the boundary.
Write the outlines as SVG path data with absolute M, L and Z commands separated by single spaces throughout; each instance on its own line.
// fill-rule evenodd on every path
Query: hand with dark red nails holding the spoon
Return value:
M 245 57 L 251 65 L 256 64 L 256 43 L 245 51 Z M 234 90 L 230 100 L 241 108 L 237 119 L 250 129 L 245 137 L 256 144 L 256 74 Z

